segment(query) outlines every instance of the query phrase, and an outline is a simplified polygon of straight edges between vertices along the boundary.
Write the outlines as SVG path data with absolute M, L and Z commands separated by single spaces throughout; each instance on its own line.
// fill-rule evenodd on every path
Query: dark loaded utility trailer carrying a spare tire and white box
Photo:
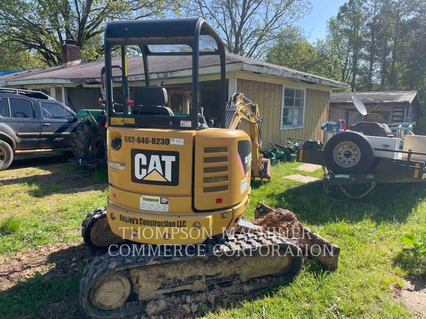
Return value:
M 377 184 L 423 182 L 426 177 L 426 137 L 416 136 L 414 139 L 414 134 L 409 132 L 413 136 L 406 138 L 411 140 L 412 146 L 405 145 L 406 149 L 400 150 L 402 140 L 393 135 L 387 124 L 363 122 L 374 108 L 367 112 L 356 96 L 352 101 L 361 121 L 351 125 L 350 130 L 346 130 L 345 120 L 324 122 L 321 129 L 325 130 L 325 144 L 306 141 L 297 149 L 296 160 L 322 165 L 324 190 L 327 191 L 329 185 L 337 185 L 351 198 L 366 196 Z M 364 194 L 355 197 L 350 195 L 353 184 L 371 186 Z

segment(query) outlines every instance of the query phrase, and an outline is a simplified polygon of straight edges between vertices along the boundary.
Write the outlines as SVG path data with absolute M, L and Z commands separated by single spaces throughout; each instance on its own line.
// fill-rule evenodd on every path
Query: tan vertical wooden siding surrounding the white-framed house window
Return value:
M 259 105 L 263 117 L 262 142 L 285 145 L 288 137 L 300 140 L 322 140 L 321 124 L 327 120 L 329 92 L 306 89 L 303 128 L 280 130 L 282 85 L 237 79 L 237 92 Z M 248 125 L 240 128 L 248 132 Z M 270 146 L 270 145 L 269 145 Z

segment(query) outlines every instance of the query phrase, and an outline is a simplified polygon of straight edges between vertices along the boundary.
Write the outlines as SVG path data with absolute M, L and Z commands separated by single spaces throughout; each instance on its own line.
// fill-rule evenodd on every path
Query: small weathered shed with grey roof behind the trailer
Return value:
M 367 111 L 373 110 L 380 103 L 367 114 L 367 122 L 418 123 L 419 117 L 423 116 L 417 91 L 349 92 L 330 94 L 331 121 L 346 120 L 347 127 L 356 123 L 359 113 L 352 103 L 354 95 L 363 101 Z

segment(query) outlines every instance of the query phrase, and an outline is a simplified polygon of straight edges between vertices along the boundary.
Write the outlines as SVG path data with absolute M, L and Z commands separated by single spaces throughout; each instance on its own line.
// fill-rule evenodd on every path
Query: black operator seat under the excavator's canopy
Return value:
M 135 115 L 174 116 L 167 104 L 167 91 L 159 86 L 138 86 L 135 88 L 132 113 Z

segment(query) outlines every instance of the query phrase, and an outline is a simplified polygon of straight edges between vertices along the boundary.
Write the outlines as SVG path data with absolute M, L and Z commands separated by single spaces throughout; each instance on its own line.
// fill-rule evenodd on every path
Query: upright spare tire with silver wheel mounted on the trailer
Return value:
M 367 173 L 374 161 L 374 148 L 364 134 L 345 131 L 328 140 L 324 159 L 327 167 L 336 174 Z

